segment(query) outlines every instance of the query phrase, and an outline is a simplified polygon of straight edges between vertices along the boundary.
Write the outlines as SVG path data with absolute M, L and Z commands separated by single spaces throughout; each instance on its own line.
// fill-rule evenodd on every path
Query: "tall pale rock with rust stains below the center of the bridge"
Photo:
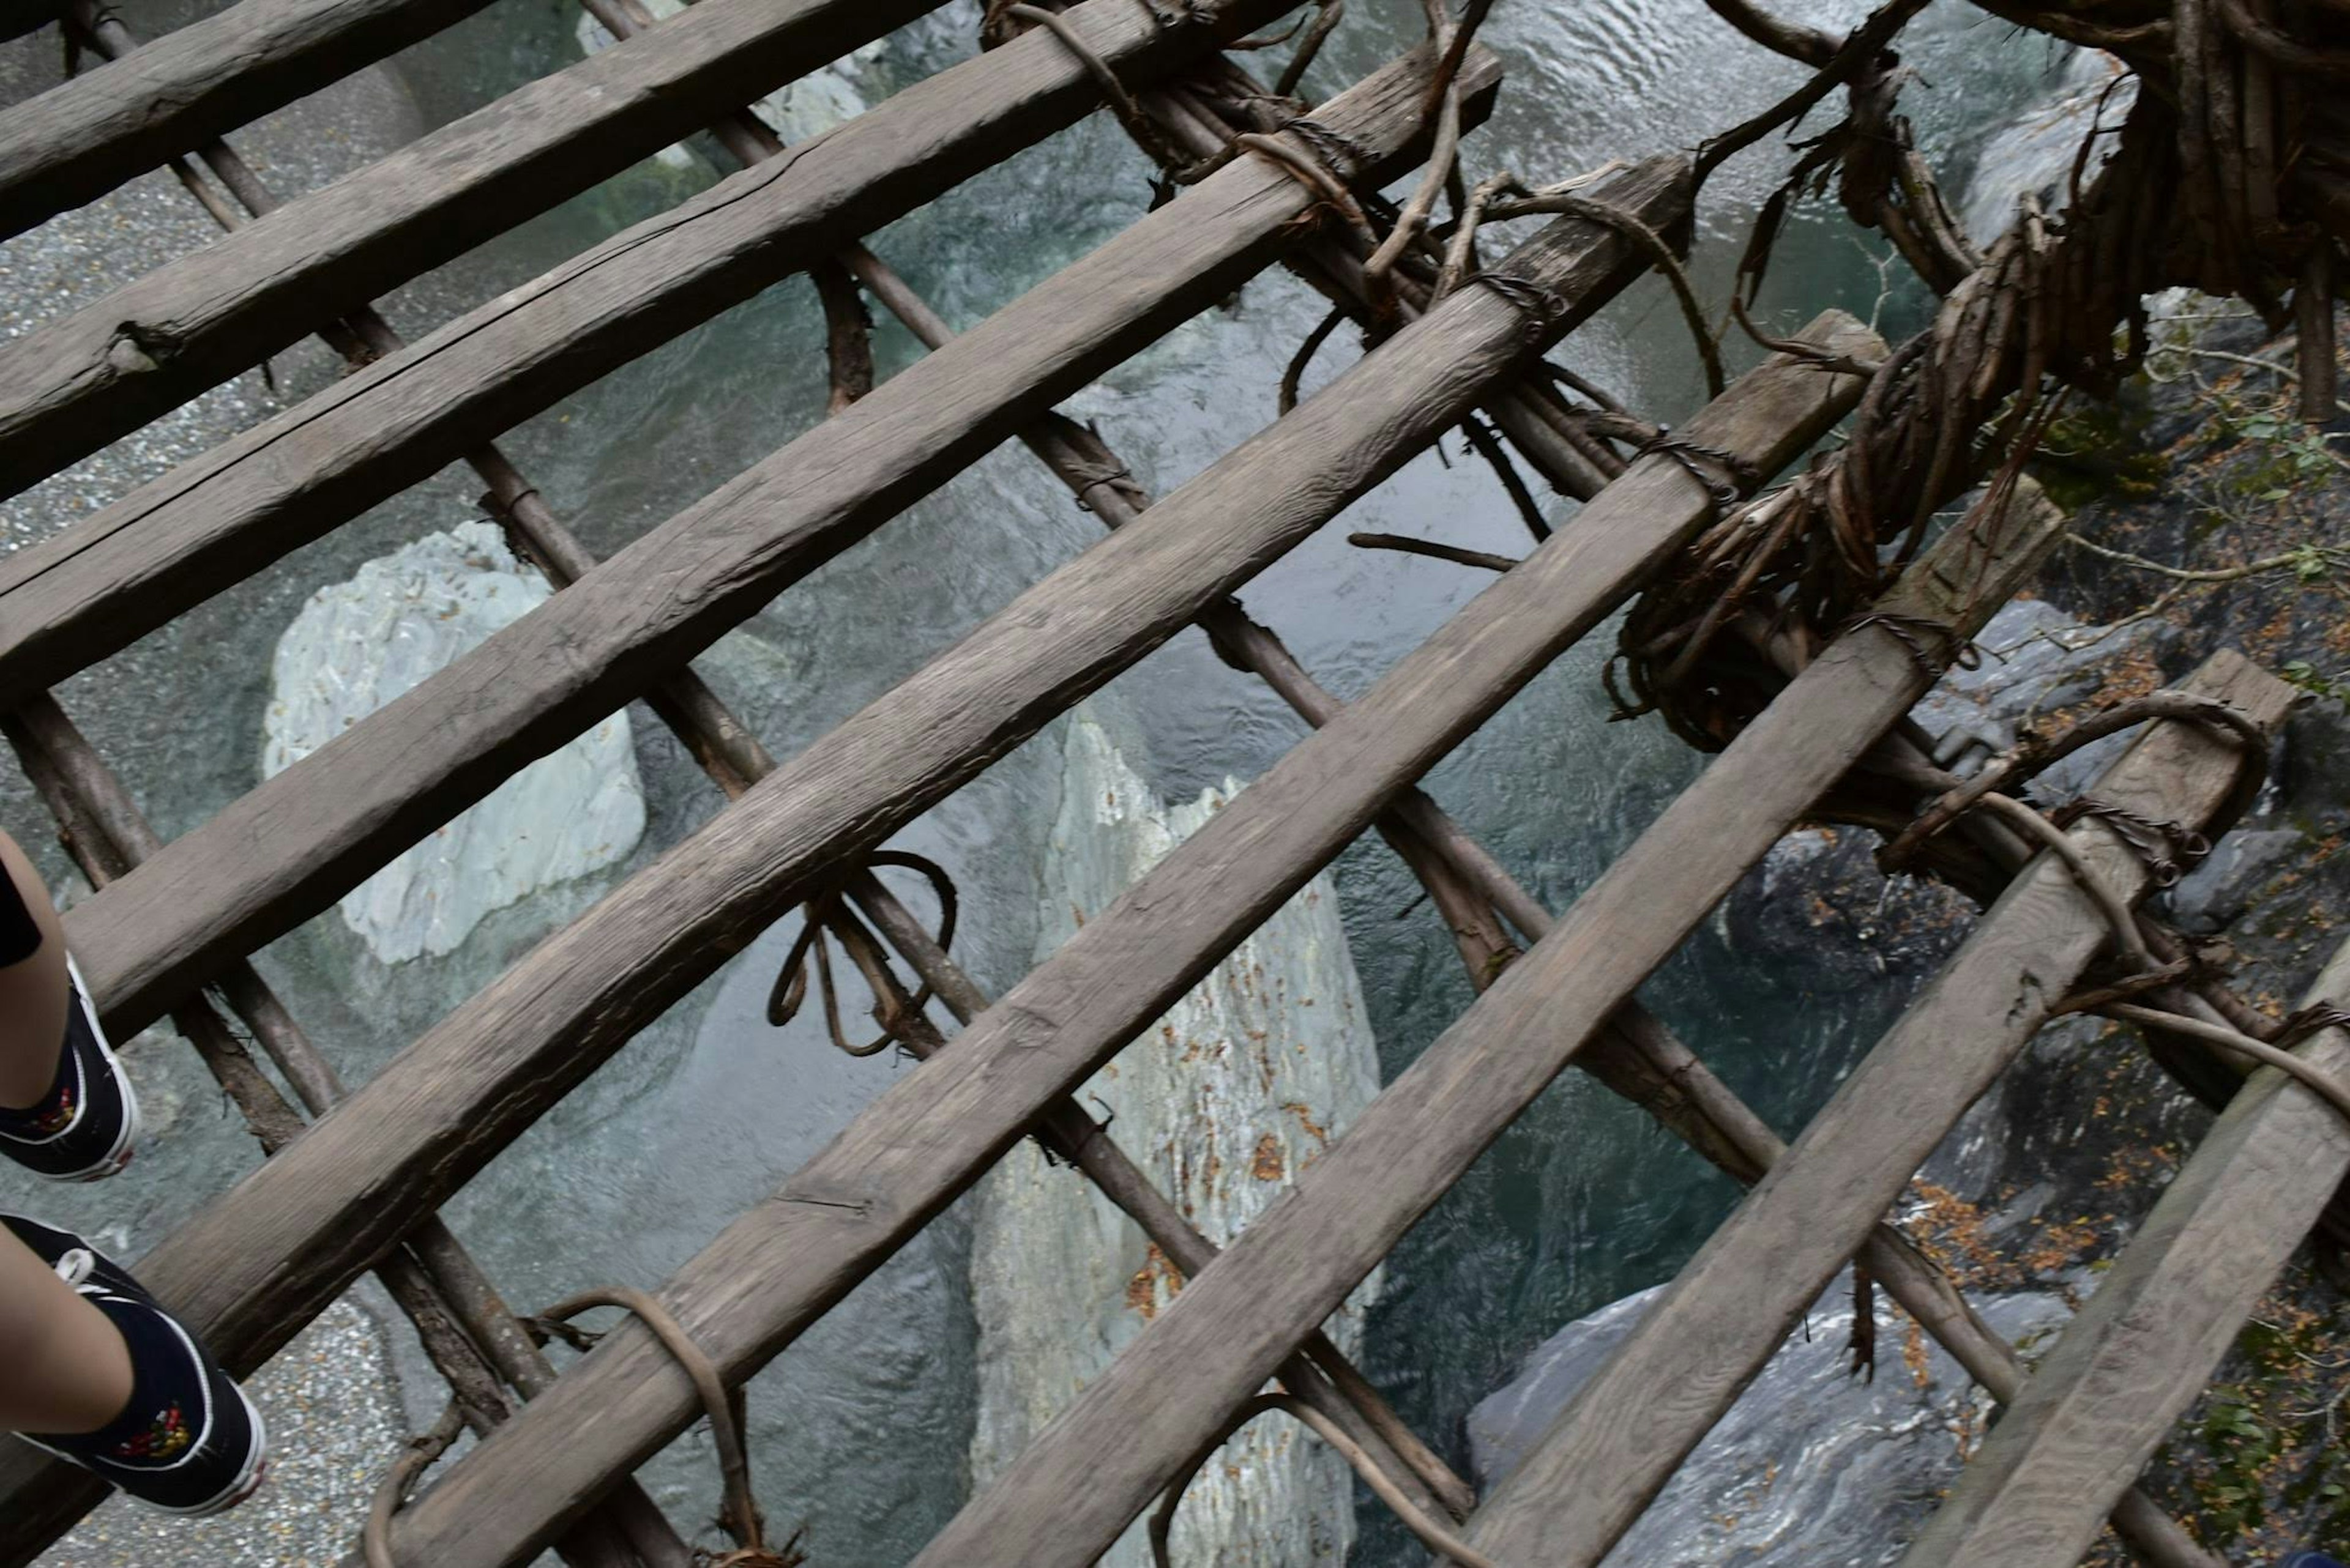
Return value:
M 1161 809 L 1090 717 L 1069 729 L 1046 860 L 1039 957 L 1109 905 L 1224 799 Z M 1314 1164 L 1377 1093 L 1377 1056 L 1337 898 L 1316 877 L 1161 1018 L 1079 1100 L 1213 1239 L 1229 1241 Z M 980 1185 L 971 1267 L 980 1324 L 973 1486 L 985 1486 L 1166 1307 L 1173 1267 L 1072 1171 L 1022 1143 Z M 1328 1324 L 1363 1338 L 1377 1276 Z M 1354 1481 L 1318 1439 L 1267 1415 L 1184 1495 L 1182 1568 L 1342 1563 Z M 1144 1568 L 1142 1523 L 1102 1559 Z

